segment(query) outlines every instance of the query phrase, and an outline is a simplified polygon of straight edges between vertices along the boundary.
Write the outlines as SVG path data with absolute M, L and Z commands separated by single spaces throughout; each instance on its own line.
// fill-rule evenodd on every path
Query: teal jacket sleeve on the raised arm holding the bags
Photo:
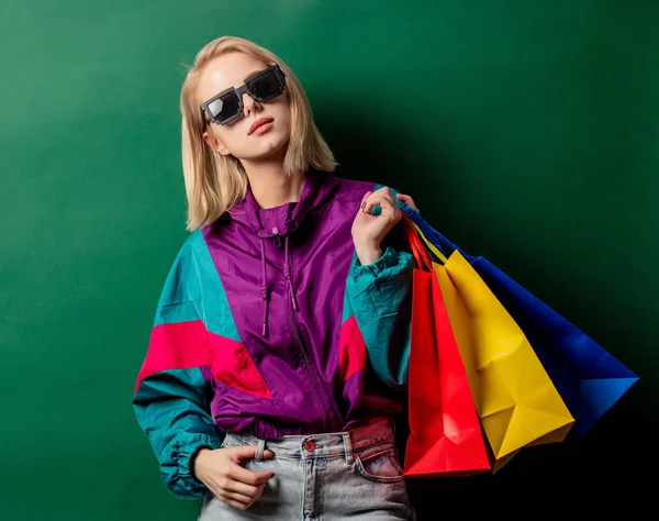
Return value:
M 391 191 L 395 195 L 395 190 Z M 401 201 L 398 203 L 399 207 L 403 206 Z M 379 207 L 376 209 L 379 210 Z M 377 214 L 378 210 L 371 213 Z M 366 266 L 361 265 L 355 253 L 346 290 L 373 370 L 390 389 L 405 391 L 410 361 L 412 273 L 416 262 L 407 251 L 400 222 L 389 232 L 381 247 L 382 256 Z

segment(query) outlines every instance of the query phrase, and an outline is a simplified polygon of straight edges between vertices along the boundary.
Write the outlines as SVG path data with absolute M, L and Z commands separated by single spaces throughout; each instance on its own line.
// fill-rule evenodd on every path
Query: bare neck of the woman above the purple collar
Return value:
M 275 208 L 300 200 L 304 188 L 304 173 L 291 177 L 282 174 L 281 162 L 243 162 L 252 193 L 261 209 Z

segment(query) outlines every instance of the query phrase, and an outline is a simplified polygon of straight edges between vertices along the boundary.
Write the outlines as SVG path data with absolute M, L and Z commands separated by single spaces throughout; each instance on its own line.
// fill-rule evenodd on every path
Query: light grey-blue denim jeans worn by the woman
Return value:
M 208 494 L 198 521 L 267 519 L 281 521 L 416 520 L 394 444 L 393 419 L 356 429 L 263 440 L 227 433 L 223 447 L 256 445 L 249 470 L 272 470 L 264 494 L 238 510 Z M 261 459 L 265 448 L 275 453 Z

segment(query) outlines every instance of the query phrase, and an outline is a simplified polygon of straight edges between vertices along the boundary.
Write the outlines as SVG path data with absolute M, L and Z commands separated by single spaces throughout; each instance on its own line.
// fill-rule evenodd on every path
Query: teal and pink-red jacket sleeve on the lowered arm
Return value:
M 179 499 L 209 492 L 192 475 L 192 456 L 201 447 L 219 448 L 223 439 L 210 414 L 212 350 L 194 268 L 193 251 L 186 242 L 163 289 L 132 400 L 160 478 Z

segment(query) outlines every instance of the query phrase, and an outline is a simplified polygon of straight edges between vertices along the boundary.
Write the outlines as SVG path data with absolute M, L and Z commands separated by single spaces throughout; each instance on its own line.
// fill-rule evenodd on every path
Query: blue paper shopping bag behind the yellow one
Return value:
M 459 251 L 511 313 L 574 417 L 577 434 L 584 435 L 638 380 L 593 339 L 488 259 L 467 255 L 415 211 L 402 210 L 427 247 L 443 256 Z

